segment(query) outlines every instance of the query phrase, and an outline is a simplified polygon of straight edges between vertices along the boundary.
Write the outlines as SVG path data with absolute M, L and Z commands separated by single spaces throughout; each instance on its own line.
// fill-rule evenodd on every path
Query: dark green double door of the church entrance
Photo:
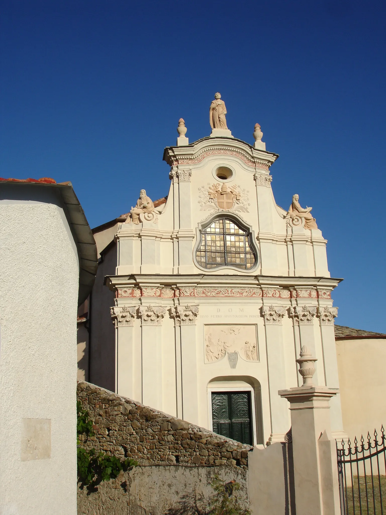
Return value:
M 252 445 L 251 392 L 212 393 L 213 432 Z

